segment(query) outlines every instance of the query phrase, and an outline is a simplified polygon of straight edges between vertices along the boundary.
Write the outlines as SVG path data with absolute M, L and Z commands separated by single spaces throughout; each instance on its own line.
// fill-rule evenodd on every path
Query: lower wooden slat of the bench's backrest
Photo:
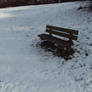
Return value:
M 66 37 L 66 38 L 71 38 L 72 40 L 77 40 L 77 36 L 71 36 L 70 34 L 65 34 L 65 33 L 60 33 L 60 32 L 56 32 L 56 31 L 53 31 L 53 30 L 46 30 L 46 32 L 48 33 L 51 33 L 51 34 L 55 34 L 55 35 L 59 35 L 59 36 L 63 36 L 63 37 Z

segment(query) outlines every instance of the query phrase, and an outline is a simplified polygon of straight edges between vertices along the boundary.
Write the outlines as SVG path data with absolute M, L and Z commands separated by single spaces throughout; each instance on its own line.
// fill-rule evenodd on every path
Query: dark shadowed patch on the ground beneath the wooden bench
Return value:
M 40 46 L 42 49 L 44 49 L 44 51 L 46 51 L 46 52 L 50 51 L 53 53 L 53 55 L 62 57 L 65 60 L 72 59 L 72 56 L 75 53 L 75 51 L 72 47 L 70 47 L 69 49 L 61 47 L 61 49 L 60 49 L 57 46 L 55 46 L 54 43 L 49 42 L 49 41 L 42 41 L 42 42 L 38 43 L 38 46 Z

